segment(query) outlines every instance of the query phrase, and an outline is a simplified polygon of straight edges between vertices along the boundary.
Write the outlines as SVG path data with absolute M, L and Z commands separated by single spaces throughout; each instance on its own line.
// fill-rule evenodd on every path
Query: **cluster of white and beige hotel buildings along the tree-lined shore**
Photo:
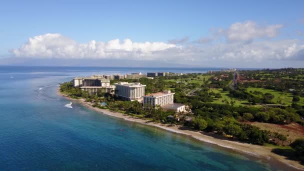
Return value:
M 146 76 L 164 76 L 165 72 L 148 72 L 147 74 L 132 73 L 126 75 L 93 75 L 88 77 L 75 77 L 73 85 L 80 87 L 82 91 L 87 91 L 89 94 L 97 94 L 98 92 L 115 93 L 122 100 L 137 100 L 142 102 L 143 106 L 151 105 L 156 107 L 161 106 L 163 109 L 175 110 L 181 112 L 185 110 L 184 104 L 173 103 L 174 92 L 164 90 L 144 95 L 144 87 L 146 85 L 139 82 L 118 82 L 115 85 L 110 85 L 112 79 L 138 79 Z M 115 90 L 115 91 L 114 91 Z

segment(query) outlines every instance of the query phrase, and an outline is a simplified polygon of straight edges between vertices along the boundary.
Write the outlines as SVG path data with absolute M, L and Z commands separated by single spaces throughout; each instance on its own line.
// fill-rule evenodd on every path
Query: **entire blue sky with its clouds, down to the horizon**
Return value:
M 6 0 L 0 65 L 303 67 L 303 0 Z

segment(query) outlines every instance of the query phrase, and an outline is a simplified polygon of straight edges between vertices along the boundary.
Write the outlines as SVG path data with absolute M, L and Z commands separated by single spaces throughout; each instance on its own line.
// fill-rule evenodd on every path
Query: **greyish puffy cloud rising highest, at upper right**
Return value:
M 271 38 L 278 34 L 281 24 L 258 25 L 253 21 L 235 22 L 227 29 L 219 29 L 228 41 L 252 41 L 256 38 Z

